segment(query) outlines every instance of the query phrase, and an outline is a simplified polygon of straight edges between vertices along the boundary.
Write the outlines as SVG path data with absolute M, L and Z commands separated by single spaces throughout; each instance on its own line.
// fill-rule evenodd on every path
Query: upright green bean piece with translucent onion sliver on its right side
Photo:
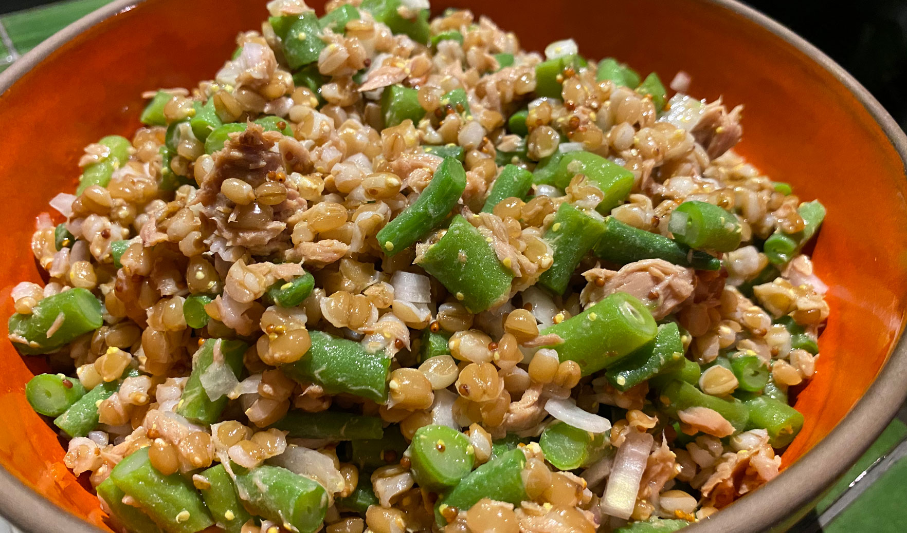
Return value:
M 176 412 L 194 422 L 204 424 L 218 422 L 229 398 L 226 395 L 211 398 L 201 384 L 201 376 L 214 363 L 214 350 L 218 348 L 223 358 L 220 363 L 226 364 L 233 375 L 239 378 L 239 373 L 242 372 L 242 355 L 246 353 L 248 347 L 249 344 L 242 341 L 206 339 L 192 355 L 192 373 L 186 382 L 186 388 L 182 391 L 180 402 L 177 403 Z

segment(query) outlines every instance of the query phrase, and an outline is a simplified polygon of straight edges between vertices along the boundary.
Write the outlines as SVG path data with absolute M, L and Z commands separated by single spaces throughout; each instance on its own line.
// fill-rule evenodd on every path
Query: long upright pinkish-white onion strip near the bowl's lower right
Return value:
M 639 481 L 646 470 L 654 441 L 649 433 L 629 431 L 627 439 L 614 457 L 608 486 L 599 502 L 601 512 L 624 519 L 633 514 L 636 496 L 639 494 Z

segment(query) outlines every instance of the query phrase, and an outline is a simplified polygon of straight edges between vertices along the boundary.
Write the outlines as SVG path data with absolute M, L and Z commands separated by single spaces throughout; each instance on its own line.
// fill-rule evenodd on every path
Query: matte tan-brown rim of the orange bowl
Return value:
M 19 60 L 0 73 L 0 98 L 25 73 L 63 44 L 96 24 L 120 13 L 130 11 L 146 0 L 116 0 L 104 5 L 79 20 L 67 25 L 43 43 L 38 44 Z M 812 61 L 831 73 L 853 94 L 882 128 L 888 141 L 907 164 L 907 135 L 892 116 L 885 111 L 873 95 L 842 66 L 825 53 L 795 34 L 785 25 L 763 15 L 756 9 L 736 0 L 696 0 L 715 5 L 741 16 L 766 29 L 775 36 L 804 53 Z M 771 490 L 756 490 L 746 498 L 737 500 L 728 510 L 712 518 L 692 524 L 689 533 L 760 533 L 783 530 L 793 523 L 798 512 L 814 502 L 834 480 L 847 470 L 892 420 L 901 404 L 907 399 L 907 338 L 903 324 L 897 343 L 874 379 L 872 385 L 853 405 L 841 422 L 828 435 L 816 443 L 812 450 L 796 460 L 775 480 Z M 837 465 L 837 466 L 830 466 Z M 60 508 L 48 505 L 48 500 L 24 484 L 5 468 L 0 468 L 0 515 L 26 533 L 98 533 L 102 529 Z M 733 510 L 731 510 L 733 509 Z M 766 509 L 772 512 L 766 513 Z M 63 512 L 61 512 L 63 511 Z M 782 529 L 776 529 L 782 528 Z

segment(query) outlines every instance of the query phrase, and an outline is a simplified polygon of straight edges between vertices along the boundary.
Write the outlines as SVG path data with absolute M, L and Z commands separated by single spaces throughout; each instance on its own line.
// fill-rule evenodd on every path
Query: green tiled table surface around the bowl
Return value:
M 70 0 L 47 4 L 46 0 L 6 0 L 0 6 L 0 11 L 9 11 L 10 8 L 29 5 L 39 6 L 0 15 L 0 71 L 66 24 L 70 24 L 110 1 Z M 772 3 L 756 0 L 753 4 L 766 8 L 771 7 Z M 898 18 L 907 21 L 907 3 L 904 3 L 903 6 L 905 6 L 901 14 L 903 16 Z M 791 16 L 794 17 L 795 22 L 796 15 Z M 791 24 L 790 20 L 783 21 Z M 795 24 L 792 25 L 798 29 Z M 907 33 L 902 36 L 904 35 Z M 807 35 L 807 37 L 809 36 Z M 903 56 L 907 56 L 907 46 L 904 46 L 901 52 Z M 835 55 L 834 50 L 830 53 Z M 845 66 L 847 66 L 846 63 Z M 889 76 L 889 78 L 894 80 L 902 77 L 901 71 L 896 71 L 894 74 L 897 75 Z M 872 83 L 869 85 L 872 89 Z M 883 94 L 880 96 L 885 95 L 884 91 L 883 89 Z M 883 100 L 885 99 L 883 98 Z M 899 107 L 892 112 L 900 109 Z M 904 126 L 907 124 L 907 117 L 901 118 L 902 126 Z M 796 533 L 903 533 L 907 531 L 907 515 L 902 512 L 903 504 L 907 502 L 907 481 L 905 481 L 907 480 L 907 424 L 905 422 L 907 422 L 907 406 L 902 408 L 898 418 L 892 421 L 872 448 L 828 491 L 815 510 L 796 524 L 791 531 Z M 0 533 L 18 533 L 18 531 L 0 517 Z

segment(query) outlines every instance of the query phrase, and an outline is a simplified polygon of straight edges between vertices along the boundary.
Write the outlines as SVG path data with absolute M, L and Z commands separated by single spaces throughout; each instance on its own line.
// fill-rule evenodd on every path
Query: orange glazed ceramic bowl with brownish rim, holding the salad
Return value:
M 785 528 L 865 450 L 907 392 L 902 131 L 824 54 L 729 0 L 436 3 L 489 15 L 528 49 L 573 37 L 582 53 L 619 57 L 640 72 L 688 72 L 697 97 L 746 103 L 738 150 L 828 208 L 814 262 L 831 287 L 832 315 L 817 374 L 796 399 L 805 427 L 785 451 L 781 476 L 688 531 Z M 0 323 L 13 313 L 11 288 L 40 280 L 29 247 L 34 218 L 57 192 L 74 189 L 83 147 L 110 133 L 131 136 L 142 92 L 210 79 L 235 35 L 266 15 L 264 0 L 121 0 L 0 75 Z M 106 528 L 93 494 L 64 468 L 61 441 L 25 401 L 24 383 L 43 362 L 23 360 L 4 342 L 0 364 L 0 511 L 34 533 Z

